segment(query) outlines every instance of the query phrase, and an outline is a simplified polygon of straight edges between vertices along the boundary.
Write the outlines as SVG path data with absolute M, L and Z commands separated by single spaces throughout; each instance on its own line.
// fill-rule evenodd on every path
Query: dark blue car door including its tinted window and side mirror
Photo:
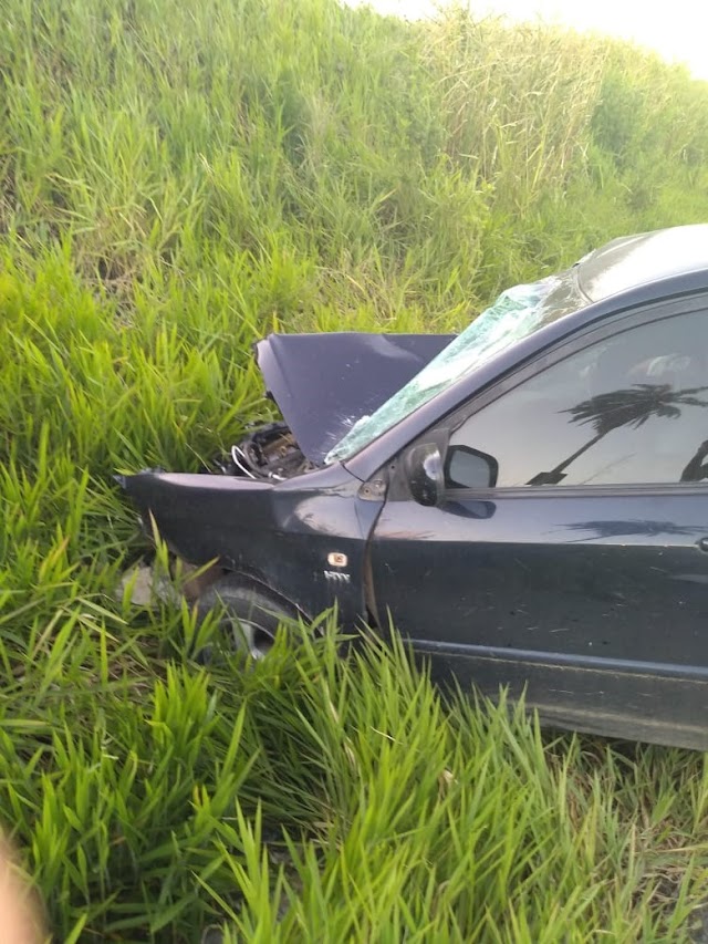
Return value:
M 431 430 L 441 500 L 387 500 L 371 558 L 379 619 L 436 673 L 708 747 L 707 309 L 623 318 Z

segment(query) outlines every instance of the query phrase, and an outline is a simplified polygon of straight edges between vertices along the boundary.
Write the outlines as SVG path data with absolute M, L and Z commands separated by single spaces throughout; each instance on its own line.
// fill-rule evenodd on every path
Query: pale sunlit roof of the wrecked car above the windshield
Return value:
M 673 276 L 708 271 L 708 224 L 676 226 L 614 239 L 577 263 L 577 283 L 590 301 Z

